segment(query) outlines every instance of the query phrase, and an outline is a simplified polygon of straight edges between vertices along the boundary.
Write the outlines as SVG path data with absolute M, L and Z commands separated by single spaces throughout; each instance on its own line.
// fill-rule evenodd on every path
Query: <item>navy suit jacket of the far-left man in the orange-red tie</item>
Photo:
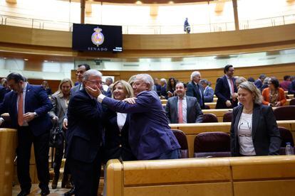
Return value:
M 5 94 L 4 101 L 0 104 L 0 114 L 9 113 L 11 118 L 11 124 L 14 128 L 18 128 L 17 121 L 17 93 L 11 91 Z M 46 90 L 40 85 L 28 85 L 26 86 L 25 97 L 25 109 L 26 112 L 36 112 L 38 117 L 29 121 L 29 126 L 34 136 L 40 136 L 52 127 L 51 119 L 48 115 L 48 111 L 51 110 L 52 104 L 46 94 Z

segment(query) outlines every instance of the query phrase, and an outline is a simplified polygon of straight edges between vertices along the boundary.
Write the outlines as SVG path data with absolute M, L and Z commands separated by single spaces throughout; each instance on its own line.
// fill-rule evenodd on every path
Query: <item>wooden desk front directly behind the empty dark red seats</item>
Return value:
M 276 121 L 278 126 L 289 129 L 293 135 L 295 142 L 295 120 L 292 121 Z M 197 134 L 202 132 L 222 131 L 229 134 L 230 122 L 221 123 L 200 123 L 200 124 L 169 124 L 171 129 L 180 129 L 187 136 L 187 144 L 189 148 L 189 157 L 194 156 L 194 141 Z

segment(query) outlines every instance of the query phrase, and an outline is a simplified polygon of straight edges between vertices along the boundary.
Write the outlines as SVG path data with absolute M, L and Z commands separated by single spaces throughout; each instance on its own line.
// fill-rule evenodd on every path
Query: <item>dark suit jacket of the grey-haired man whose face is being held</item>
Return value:
M 85 89 L 71 97 L 68 104 L 68 147 L 66 156 L 92 163 L 102 143 L 102 107 Z

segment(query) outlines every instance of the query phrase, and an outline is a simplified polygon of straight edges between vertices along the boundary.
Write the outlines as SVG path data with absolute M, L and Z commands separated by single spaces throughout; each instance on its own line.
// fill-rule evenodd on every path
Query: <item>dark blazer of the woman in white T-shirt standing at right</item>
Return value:
M 230 129 L 232 156 L 240 156 L 237 129 L 243 106 L 233 109 L 232 126 Z M 271 107 L 254 105 L 252 115 L 252 138 L 257 156 L 279 155 L 281 137 L 276 118 Z

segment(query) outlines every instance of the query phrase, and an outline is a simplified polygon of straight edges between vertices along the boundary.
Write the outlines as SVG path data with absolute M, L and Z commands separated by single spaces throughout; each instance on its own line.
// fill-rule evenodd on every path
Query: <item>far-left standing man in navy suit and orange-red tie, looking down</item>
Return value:
M 29 164 L 32 143 L 41 195 L 48 195 L 48 143 L 52 127 L 48 111 L 52 104 L 43 87 L 29 85 L 24 82 L 22 75 L 13 72 L 7 76 L 7 81 L 13 91 L 5 95 L 4 102 L 0 104 L 0 114 L 8 112 L 11 123 L 17 129 L 17 175 L 21 185 L 19 195 L 29 195 L 31 190 Z

